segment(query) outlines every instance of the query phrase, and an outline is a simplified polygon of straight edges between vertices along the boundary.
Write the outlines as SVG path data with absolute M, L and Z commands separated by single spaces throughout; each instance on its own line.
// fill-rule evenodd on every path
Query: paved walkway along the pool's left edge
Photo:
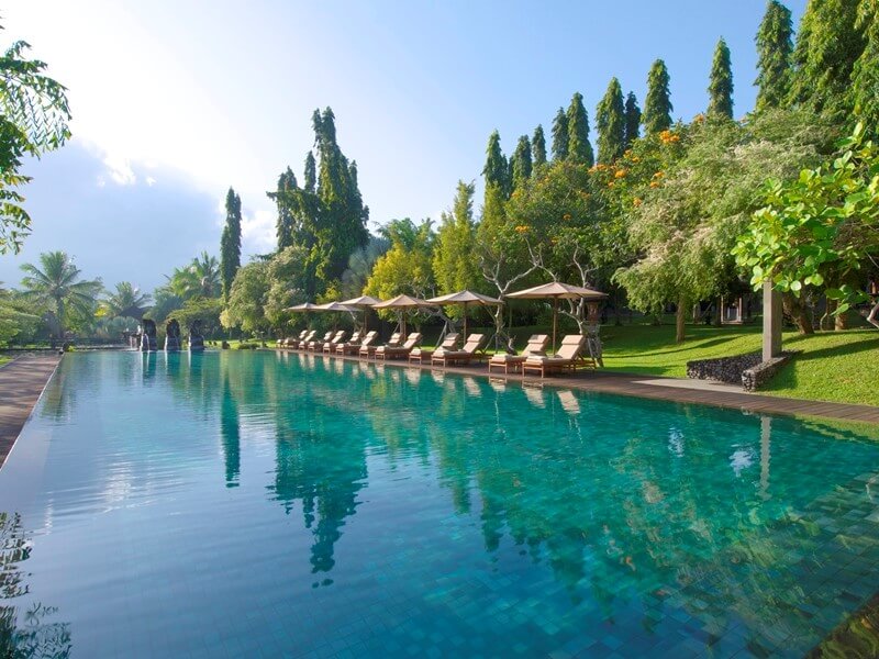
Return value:
M 60 359 L 56 353 L 23 355 L 0 368 L 0 467 Z

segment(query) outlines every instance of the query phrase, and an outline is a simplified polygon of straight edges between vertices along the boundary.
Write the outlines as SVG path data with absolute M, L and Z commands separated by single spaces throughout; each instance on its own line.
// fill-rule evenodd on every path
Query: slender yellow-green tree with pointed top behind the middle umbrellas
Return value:
M 443 213 L 433 250 L 433 272 L 439 294 L 479 289 L 482 277 L 475 254 L 475 233 L 474 186 L 458 181 L 453 211 Z

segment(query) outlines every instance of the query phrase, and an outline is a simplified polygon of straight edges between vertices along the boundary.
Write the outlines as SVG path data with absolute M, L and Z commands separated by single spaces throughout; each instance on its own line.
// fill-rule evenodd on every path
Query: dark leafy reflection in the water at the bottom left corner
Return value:
M 0 513 L 0 600 L 14 600 L 29 593 L 29 574 L 21 570 L 20 563 L 30 555 L 31 543 L 21 515 Z M 69 657 L 69 624 L 46 621 L 56 613 L 56 607 L 40 603 L 23 611 L 14 605 L 0 605 L 0 657 Z

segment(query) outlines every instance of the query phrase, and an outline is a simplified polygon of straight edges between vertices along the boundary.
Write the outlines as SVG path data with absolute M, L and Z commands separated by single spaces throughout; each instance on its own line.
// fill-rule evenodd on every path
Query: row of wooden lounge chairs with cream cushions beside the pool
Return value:
M 488 356 L 480 350 L 483 347 L 485 334 L 470 334 L 464 346 L 457 349 L 458 334 L 447 334 L 435 350 L 421 347 L 422 334 L 413 332 L 401 343 L 400 333 L 391 335 L 388 343 L 376 345 L 378 333 L 355 332 L 346 340 L 345 331 L 327 332 L 323 338 L 315 339 L 315 332 L 302 331 L 299 336 L 278 342 L 279 348 L 292 348 L 309 351 L 322 351 L 326 355 L 353 356 L 365 359 L 387 360 L 408 359 L 410 364 L 427 364 L 433 366 L 467 365 L 474 360 L 488 359 L 488 370 L 503 370 L 504 373 L 522 372 L 539 373 L 542 378 L 554 372 L 574 371 L 578 366 L 587 364 L 582 358 L 587 337 L 569 334 L 561 339 L 561 346 L 555 355 L 545 354 L 549 337 L 535 334 L 528 338 L 527 345 L 518 355 Z

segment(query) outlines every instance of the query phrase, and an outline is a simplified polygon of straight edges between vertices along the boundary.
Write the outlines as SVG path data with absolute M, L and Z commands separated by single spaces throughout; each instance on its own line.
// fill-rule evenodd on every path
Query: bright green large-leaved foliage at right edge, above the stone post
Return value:
M 850 282 L 879 257 L 879 146 L 858 124 L 831 161 L 783 178 L 767 183 L 766 205 L 733 250 L 738 265 L 755 288 L 770 281 L 795 297 L 823 289 L 842 302 L 838 313 L 865 301 Z

